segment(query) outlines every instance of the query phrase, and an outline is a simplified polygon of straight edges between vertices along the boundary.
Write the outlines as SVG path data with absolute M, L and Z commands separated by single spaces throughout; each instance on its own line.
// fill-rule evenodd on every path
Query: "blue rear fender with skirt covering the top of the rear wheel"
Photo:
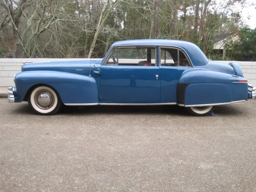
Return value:
M 230 74 L 207 70 L 185 72 L 178 82 L 177 103 L 182 106 L 196 106 L 247 100 L 247 84 L 234 84 L 234 78 Z

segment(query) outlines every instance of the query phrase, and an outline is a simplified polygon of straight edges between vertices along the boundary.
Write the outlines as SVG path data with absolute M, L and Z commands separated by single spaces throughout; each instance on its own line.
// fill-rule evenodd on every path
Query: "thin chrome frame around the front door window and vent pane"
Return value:
M 108 66 L 108 64 L 106 64 L 107 63 L 107 61 L 110 59 L 110 56 L 111 56 L 111 54 L 113 53 L 113 51 L 114 51 L 114 49 L 115 48 L 117 48 L 117 60 L 116 60 L 116 62 L 117 62 L 117 65 L 111 65 L 111 66 L 119 66 L 119 62 L 118 62 L 118 48 L 132 48 L 132 49 L 136 49 L 136 48 L 145 48 L 145 49 L 147 49 L 147 48 L 154 48 L 155 49 L 155 65 L 154 66 L 158 66 L 157 65 L 157 61 L 158 61 L 158 57 L 157 57 L 157 51 L 158 51 L 158 49 L 157 49 L 157 46 L 151 46 L 151 45 L 149 45 L 149 46 L 143 46 L 143 45 L 139 45 L 139 46 L 132 46 L 132 45 L 125 45 L 125 46 L 113 46 L 112 48 L 111 48 L 111 50 L 110 50 L 110 52 L 109 52 L 109 54 L 108 54 L 108 56 L 106 57 L 106 59 L 104 60 L 104 62 L 103 62 L 103 64 L 102 65 L 107 65 Z M 152 54 L 151 54 L 151 56 L 152 56 Z M 151 59 L 152 60 L 152 59 Z M 122 66 L 128 66 L 128 65 L 122 65 Z M 134 65 L 134 67 L 141 67 L 141 66 L 139 66 L 139 65 Z M 152 65 L 152 67 L 154 67 L 153 65 Z

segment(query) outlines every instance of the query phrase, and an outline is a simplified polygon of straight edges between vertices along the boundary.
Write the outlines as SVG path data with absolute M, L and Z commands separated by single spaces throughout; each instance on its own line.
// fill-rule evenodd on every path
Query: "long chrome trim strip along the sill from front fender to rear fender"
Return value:
M 67 106 L 91 106 L 91 105 L 176 105 L 177 103 L 64 103 Z

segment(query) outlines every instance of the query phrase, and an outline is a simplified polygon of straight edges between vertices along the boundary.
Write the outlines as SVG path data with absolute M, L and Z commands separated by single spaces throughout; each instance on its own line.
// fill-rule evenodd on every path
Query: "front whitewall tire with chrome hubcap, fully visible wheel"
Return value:
M 48 86 L 38 86 L 32 90 L 28 103 L 36 114 L 53 115 L 61 107 L 61 100 L 52 88 Z

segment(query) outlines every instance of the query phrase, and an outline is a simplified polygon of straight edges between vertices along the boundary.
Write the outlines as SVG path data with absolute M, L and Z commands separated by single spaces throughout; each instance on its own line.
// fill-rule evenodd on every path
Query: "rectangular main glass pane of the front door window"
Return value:
M 156 48 L 118 47 L 118 65 L 156 66 Z

